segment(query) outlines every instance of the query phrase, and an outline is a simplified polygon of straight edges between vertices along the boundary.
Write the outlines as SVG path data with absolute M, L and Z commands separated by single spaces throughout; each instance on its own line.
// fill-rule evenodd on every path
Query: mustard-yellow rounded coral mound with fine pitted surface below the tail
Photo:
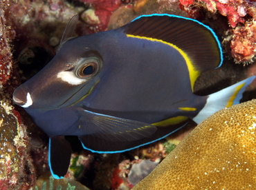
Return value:
M 255 189 L 256 100 L 198 125 L 136 189 Z

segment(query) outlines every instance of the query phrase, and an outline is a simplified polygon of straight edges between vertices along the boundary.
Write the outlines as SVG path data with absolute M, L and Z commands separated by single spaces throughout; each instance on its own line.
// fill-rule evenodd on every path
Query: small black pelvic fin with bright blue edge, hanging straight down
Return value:
M 49 138 L 48 165 L 53 178 L 64 178 L 68 171 L 71 152 L 71 145 L 64 136 L 53 136 Z

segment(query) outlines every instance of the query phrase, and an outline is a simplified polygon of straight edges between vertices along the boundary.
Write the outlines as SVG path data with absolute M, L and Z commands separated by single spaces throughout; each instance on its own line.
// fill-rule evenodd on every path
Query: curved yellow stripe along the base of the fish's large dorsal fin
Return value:
M 152 38 L 148 38 L 148 37 L 144 37 L 144 36 L 134 36 L 134 35 L 131 35 L 131 34 L 127 34 L 127 37 L 136 38 L 136 39 L 146 39 L 146 40 L 149 40 L 149 41 L 158 41 L 158 42 L 164 43 L 166 45 L 170 45 L 171 47 L 174 47 L 174 49 L 176 49 L 183 56 L 183 58 L 185 59 L 185 62 L 187 63 L 188 72 L 190 74 L 191 89 L 192 89 L 192 92 L 194 92 L 194 82 L 196 81 L 196 78 L 199 76 L 200 73 L 196 70 L 196 68 L 192 64 L 192 61 L 188 57 L 188 54 L 183 52 L 183 50 L 181 50 L 176 45 L 174 45 L 172 43 L 167 43 L 166 41 L 163 41 L 163 40 L 152 39 Z

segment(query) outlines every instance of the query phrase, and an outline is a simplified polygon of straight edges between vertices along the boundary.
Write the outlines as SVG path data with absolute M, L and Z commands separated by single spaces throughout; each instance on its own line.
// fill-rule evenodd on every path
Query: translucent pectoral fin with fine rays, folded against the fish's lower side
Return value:
M 154 125 L 117 118 L 95 112 L 81 111 L 79 127 L 81 134 L 95 136 L 108 141 L 132 141 L 152 136 Z

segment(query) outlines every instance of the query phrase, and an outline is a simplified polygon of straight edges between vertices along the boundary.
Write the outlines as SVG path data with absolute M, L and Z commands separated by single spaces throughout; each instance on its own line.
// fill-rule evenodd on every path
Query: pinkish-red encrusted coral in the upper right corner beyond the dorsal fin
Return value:
M 217 14 L 226 17 L 230 29 L 226 31 L 223 44 L 226 52 L 230 54 L 235 63 L 253 63 L 255 57 L 255 20 L 256 3 L 246 0 L 179 0 L 183 10 L 190 17 L 199 19 L 200 10 L 208 10 L 212 17 L 217 19 Z

